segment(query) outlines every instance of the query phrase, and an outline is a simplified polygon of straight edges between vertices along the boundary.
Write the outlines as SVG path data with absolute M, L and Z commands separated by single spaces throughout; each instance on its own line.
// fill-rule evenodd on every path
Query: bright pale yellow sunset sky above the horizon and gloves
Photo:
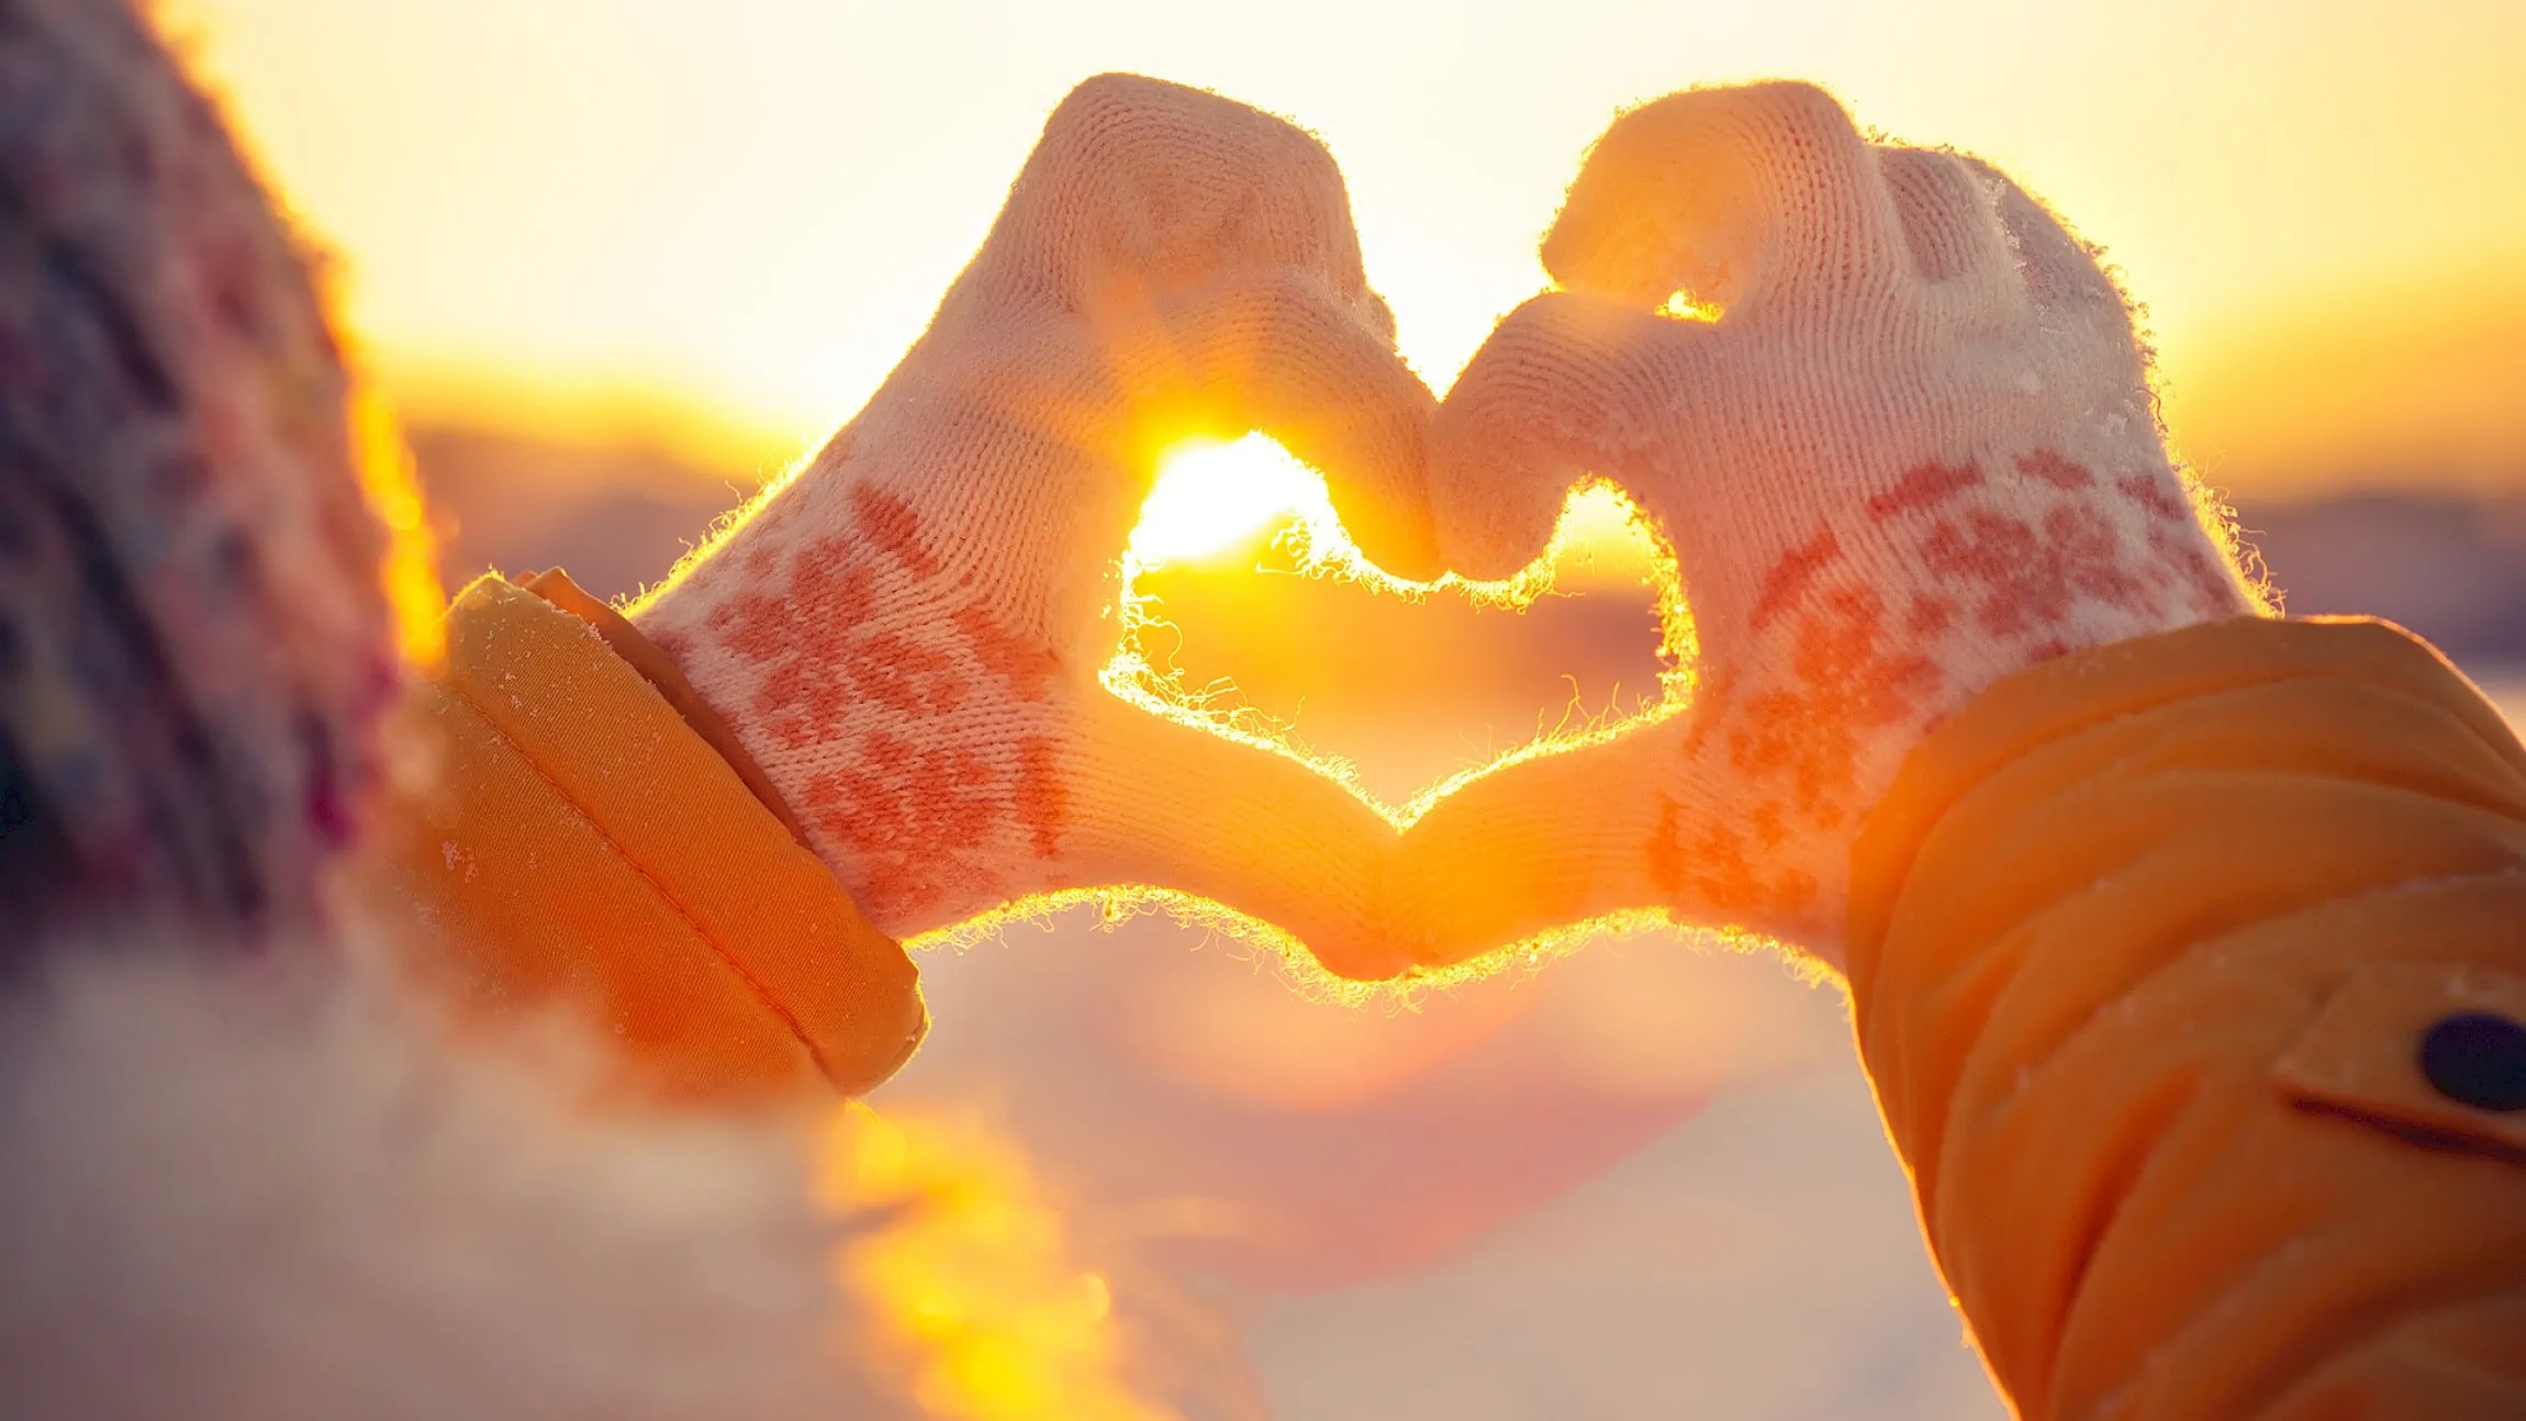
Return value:
M 164 0 L 424 419 L 763 467 L 844 419 L 1043 114 L 1132 68 L 1319 131 L 1435 384 L 1543 275 L 1589 139 L 1809 76 L 1985 154 L 2150 305 L 2246 492 L 2526 475 L 2516 0 Z

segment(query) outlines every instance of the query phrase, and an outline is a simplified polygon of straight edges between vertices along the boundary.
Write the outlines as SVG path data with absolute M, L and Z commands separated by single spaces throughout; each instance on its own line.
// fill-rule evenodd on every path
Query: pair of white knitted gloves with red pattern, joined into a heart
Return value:
M 1872 146 L 1806 86 L 1682 93 L 1596 146 L 1546 265 L 1569 290 L 1435 409 L 1314 139 L 1089 81 L 884 389 L 634 616 L 889 931 L 1154 886 L 1382 979 L 1619 914 L 1829 959 L 1857 820 L 1935 717 L 2251 606 L 2122 295 L 1970 159 Z M 1690 707 L 1397 830 L 1111 694 L 1154 457 L 1245 429 L 1399 575 L 1513 578 L 1574 482 L 1617 480 L 1690 578 Z

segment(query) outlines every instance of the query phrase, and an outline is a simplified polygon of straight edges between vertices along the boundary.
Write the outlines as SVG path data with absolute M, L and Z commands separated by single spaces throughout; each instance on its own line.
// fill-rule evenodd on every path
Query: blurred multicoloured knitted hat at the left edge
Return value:
M 0 0 L 0 949 L 308 919 L 394 681 L 308 265 L 124 0 Z

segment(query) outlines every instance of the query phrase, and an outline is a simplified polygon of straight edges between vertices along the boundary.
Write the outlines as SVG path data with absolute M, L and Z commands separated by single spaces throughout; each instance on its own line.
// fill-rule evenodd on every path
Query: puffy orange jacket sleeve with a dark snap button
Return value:
M 2021 1416 L 2526 1416 L 2526 752 L 2435 651 L 2236 621 L 2003 681 L 1872 815 L 1849 941 Z

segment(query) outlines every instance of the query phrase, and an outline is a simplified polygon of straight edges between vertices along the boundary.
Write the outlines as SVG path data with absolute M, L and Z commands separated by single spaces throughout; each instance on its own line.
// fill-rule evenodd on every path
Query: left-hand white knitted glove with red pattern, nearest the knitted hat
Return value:
M 1427 573 L 1430 406 L 1324 146 L 1091 78 L 884 389 L 632 616 L 887 931 L 1154 883 L 1339 957 L 1392 830 L 1096 671 L 1175 439 L 1273 434 L 1372 555 Z

